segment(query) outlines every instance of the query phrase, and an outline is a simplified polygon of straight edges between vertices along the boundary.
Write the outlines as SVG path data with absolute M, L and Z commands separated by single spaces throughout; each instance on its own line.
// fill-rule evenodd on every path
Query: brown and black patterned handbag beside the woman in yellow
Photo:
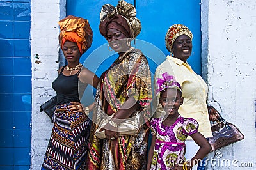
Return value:
M 211 114 L 211 109 L 214 107 L 209 107 L 209 117 Z M 216 109 L 215 109 L 216 110 Z M 244 135 L 241 133 L 239 128 L 237 128 L 232 123 L 228 123 L 224 118 L 221 117 L 220 113 L 216 111 L 218 116 L 218 121 L 214 121 L 211 124 L 212 137 L 209 137 L 209 143 L 212 146 L 212 151 L 220 150 L 221 148 L 228 146 L 230 144 L 236 143 L 244 139 Z

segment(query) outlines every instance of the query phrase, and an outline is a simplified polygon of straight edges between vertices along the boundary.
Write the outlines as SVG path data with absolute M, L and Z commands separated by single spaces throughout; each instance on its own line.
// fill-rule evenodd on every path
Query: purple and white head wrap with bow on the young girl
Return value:
M 157 78 L 157 96 L 159 96 L 161 91 L 165 91 L 166 89 L 178 89 L 180 92 L 182 92 L 179 82 L 176 81 L 173 75 L 168 75 L 168 73 L 165 72 L 162 74 L 162 77 L 163 79 Z

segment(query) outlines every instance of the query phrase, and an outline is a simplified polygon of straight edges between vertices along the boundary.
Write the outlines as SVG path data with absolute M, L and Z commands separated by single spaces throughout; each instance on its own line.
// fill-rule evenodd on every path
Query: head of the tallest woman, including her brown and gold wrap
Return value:
M 136 18 L 136 9 L 125 1 L 119 1 L 116 8 L 111 4 L 102 6 L 99 30 L 109 46 L 120 56 L 131 49 L 131 40 L 141 31 L 140 20 Z M 122 37 L 118 37 L 118 33 Z M 111 34 L 110 34 L 111 33 Z

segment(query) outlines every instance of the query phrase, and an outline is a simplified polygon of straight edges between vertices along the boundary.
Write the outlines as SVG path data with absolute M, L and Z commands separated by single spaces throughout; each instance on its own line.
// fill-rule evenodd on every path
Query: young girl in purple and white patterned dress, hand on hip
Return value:
M 159 102 L 168 114 L 151 120 L 152 143 L 147 169 L 191 169 L 211 151 L 211 146 L 198 132 L 196 120 L 180 116 L 178 109 L 183 103 L 180 84 L 167 72 L 162 76 L 163 79 L 157 79 L 156 95 L 160 95 Z M 200 149 L 191 160 L 186 161 L 185 141 L 188 136 Z

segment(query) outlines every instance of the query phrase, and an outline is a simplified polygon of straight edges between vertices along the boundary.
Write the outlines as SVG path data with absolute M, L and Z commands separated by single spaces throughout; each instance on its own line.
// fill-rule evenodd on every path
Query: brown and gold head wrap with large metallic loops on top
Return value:
M 132 4 L 118 1 L 118 4 L 104 4 L 100 11 L 100 33 L 107 37 L 108 29 L 116 29 L 127 38 L 136 38 L 141 31 L 141 23 L 136 17 L 136 9 Z

